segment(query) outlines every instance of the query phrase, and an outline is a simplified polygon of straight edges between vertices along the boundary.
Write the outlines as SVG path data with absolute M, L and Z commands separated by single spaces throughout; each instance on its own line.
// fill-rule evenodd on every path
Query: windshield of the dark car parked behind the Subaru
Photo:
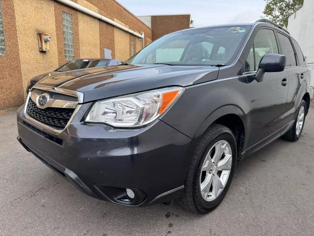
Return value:
M 78 59 L 72 60 L 64 65 L 61 65 L 55 71 L 65 72 L 70 70 L 78 70 L 92 67 L 106 66 L 108 60 L 88 60 L 88 59 Z

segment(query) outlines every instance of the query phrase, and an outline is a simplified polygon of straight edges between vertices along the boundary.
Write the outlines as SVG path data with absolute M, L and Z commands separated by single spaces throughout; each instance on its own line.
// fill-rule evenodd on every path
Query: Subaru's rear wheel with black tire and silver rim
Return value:
M 300 112 L 302 112 L 303 110 L 303 123 L 302 123 L 302 127 L 300 128 L 300 130 L 297 129 L 297 123 L 300 122 Z M 303 127 L 304 127 L 304 122 L 305 122 L 305 114 L 306 114 L 306 102 L 304 100 L 301 101 L 300 107 L 297 110 L 296 113 L 296 117 L 293 123 L 293 126 L 288 130 L 288 132 L 286 134 L 284 134 L 282 136 L 282 138 L 284 140 L 287 141 L 291 141 L 291 142 L 295 142 L 297 141 L 301 135 L 302 135 L 302 131 L 303 131 Z

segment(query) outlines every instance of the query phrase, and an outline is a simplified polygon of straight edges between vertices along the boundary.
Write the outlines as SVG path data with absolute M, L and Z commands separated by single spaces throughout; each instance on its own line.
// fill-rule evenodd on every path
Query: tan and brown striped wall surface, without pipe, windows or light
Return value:
M 152 30 L 115 0 L 73 1 L 134 31 L 144 31 L 145 42 L 151 41 Z M 130 58 L 129 33 L 58 1 L 1 0 L 1 3 L 7 54 L 0 56 L 0 110 L 21 105 L 32 77 L 66 62 L 62 11 L 73 16 L 75 58 L 103 58 L 104 48 L 112 50 L 113 58 Z M 52 37 L 48 53 L 39 52 L 38 33 Z M 131 37 L 137 52 L 142 48 L 142 41 Z

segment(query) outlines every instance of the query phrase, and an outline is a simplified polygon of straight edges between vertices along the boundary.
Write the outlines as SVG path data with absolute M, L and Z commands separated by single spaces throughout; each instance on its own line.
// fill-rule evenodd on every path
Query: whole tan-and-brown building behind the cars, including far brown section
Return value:
M 147 25 L 116 0 L 0 0 L 0 110 L 21 105 L 32 77 L 68 60 L 104 58 L 104 52 L 126 60 L 190 26 L 190 15 L 169 17 Z M 40 51 L 39 34 L 51 36 L 47 52 Z

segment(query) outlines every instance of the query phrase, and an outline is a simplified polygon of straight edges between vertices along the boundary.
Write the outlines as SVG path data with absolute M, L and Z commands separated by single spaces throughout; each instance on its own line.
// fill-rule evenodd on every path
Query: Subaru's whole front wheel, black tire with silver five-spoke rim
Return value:
M 218 147 L 217 150 L 220 149 L 220 152 L 216 152 L 216 147 Z M 230 151 L 232 160 L 230 160 Z M 221 152 L 222 157 L 219 159 Z M 187 210 L 199 214 L 208 213 L 216 208 L 224 199 L 231 184 L 235 171 L 236 156 L 236 141 L 232 131 L 226 126 L 220 124 L 211 125 L 194 151 L 188 173 L 185 178 L 185 188 L 181 197 L 177 199 L 177 202 Z M 217 163 L 214 164 L 216 167 L 210 167 L 210 165 L 212 166 L 212 162 L 215 158 L 218 160 Z M 208 163 L 208 165 L 205 164 L 205 159 L 207 160 L 206 163 Z M 228 165 L 222 166 L 224 163 L 223 161 L 228 161 Z M 225 168 L 226 170 L 221 171 L 219 168 Z M 228 172 L 228 168 L 230 168 L 230 172 Z M 204 171 L 205 169 L 210 170 Z M 227 172 L 229 173 L 228 177 L 226 174 Z M 211 183 L 209 183 L 210 177 L 212 178 Z M 220 182 L 223 182 L 223 188 L 214 188 L 213 184 L 219 182 L 217 179 L 220 178 L 222 178 Z M 208 184 L 206 184 L 206 182 L 208 182 Z M 208 187 L 209 185 L 210 187 Z M 202 186 L 206 187 L 204 187 L 203 190 L 205 190 L 201 192 Z M 217 184 L 215 184 L 215 186 L 217 186 Z M 207 189 L 209 189 L 208 193 Z

